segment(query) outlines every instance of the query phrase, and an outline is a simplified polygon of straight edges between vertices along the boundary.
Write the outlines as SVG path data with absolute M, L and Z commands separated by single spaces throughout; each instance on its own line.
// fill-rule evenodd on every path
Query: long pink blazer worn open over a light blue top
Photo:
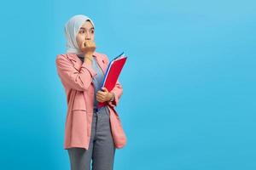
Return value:
M 107 55 L 95 52 L 93 57 L 105 73 L 109 62 Z M 93 70 L 92 65 L 83 63 L 76 54 L 57 54 L 55 64 L 67 94 L 64 149 L 80 147 L 88 150 L 94 103 L 92 77 L 96 76 L 96 71 Z M 123 94 L 119 80 L 112 92 L 115 94 L 115 99 L 108 102 L 108 109 L 114 145 L 119 149 L 126 144 L 119 114 L 114 109 Z

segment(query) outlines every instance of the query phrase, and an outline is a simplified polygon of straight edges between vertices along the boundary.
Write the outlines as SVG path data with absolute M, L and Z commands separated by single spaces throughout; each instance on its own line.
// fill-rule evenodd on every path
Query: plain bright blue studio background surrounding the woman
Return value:
M 125 51 L 117 170 L 256 169 L 255 1 L 5 1 L 1 169 L 69 169 L 55 69 L 64 24 L 96 25 L 96 51 Z

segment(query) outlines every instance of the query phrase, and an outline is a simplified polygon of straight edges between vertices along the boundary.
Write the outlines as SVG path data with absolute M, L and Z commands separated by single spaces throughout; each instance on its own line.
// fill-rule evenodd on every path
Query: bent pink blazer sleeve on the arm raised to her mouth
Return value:
M 96 71 L 93 70 L 92 65 L 84 62 L 78 71 L 73 66 L 73 63 L 62 54 L 57 55 L 55 65 L 61 82 L 66 83 L 69 88 L 75 90 L 87 90 L 92 78 L 96 76 Z

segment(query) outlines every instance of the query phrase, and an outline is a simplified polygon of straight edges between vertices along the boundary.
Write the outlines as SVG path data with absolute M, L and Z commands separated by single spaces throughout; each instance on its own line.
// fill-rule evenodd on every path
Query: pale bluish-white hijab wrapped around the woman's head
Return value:
M 65 24 L 65 35 L 66 35 L 66 48 L 67 53 L 80 54 L 82 53 L 79 49 L 76 37 L 79 32 L 80 27 L 84 24 L 86 20 L 90 20 L 88 16 L 83 14 L 74 15 L 71 19 Z M 94 23 L 90 20 L 92 26 Z

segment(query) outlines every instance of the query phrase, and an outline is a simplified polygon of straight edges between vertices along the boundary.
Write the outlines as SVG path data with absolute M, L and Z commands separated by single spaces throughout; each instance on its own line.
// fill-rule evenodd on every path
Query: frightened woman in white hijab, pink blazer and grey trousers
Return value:
M 101 88 L 108 68 L 106 54 L 97 53 L 95 26 L 89 17 L 75 15 L 65 25 L 67 53 L 57 54 L 58 76 L 67 94 L 64 149 L 72 170 L 112 170 L 116 148 L 126 144 L 114 107 L 123 94 L 119 82 L 111 92 Z M 107 105 L 97 108 L 98 102 Z

